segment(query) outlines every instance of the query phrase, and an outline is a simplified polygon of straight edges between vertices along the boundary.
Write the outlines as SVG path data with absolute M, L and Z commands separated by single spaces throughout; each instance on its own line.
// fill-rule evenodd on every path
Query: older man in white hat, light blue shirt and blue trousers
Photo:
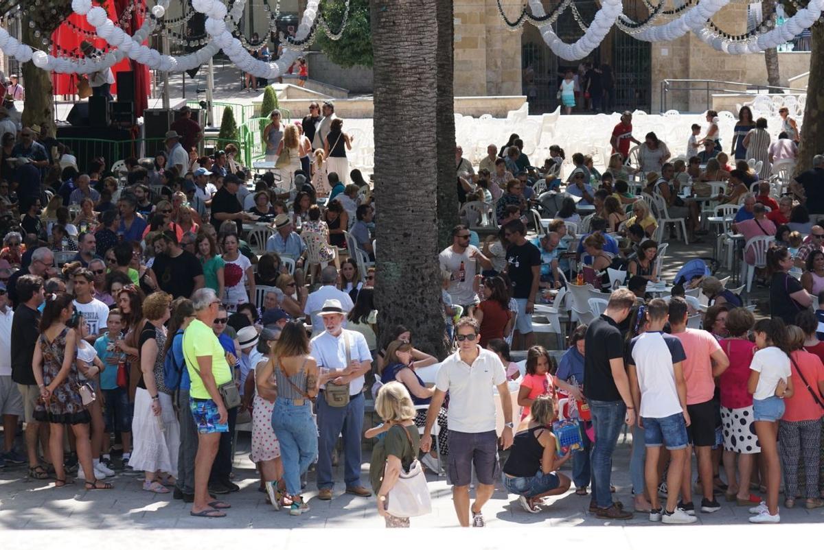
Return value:
M 334 268 L 333 268 L 334 269 Z M 317 313 L 325 331 L 311 339 L 311 357 L 321 369 L 321 393 L 317 398 L 319 432 L 317 488 L 321 501 L 332 499 L 332 451 L 338 436 L 344 437 L 344 482 L 346 492 L 371 496 L 360 480 L 361 434 L 363 433 L 363 375 L 372 368 L 372 354 L 363 334 L 344 329 L 345 310 L 338 300 L 327 300 Z M 349 403 L 330 404 L 329 385 L 348 385 Z

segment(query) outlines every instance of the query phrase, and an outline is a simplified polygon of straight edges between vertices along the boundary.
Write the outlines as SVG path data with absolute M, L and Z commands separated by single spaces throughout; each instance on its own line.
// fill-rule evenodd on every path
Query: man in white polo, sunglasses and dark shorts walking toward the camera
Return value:
M 438 370 L 435 394 L 426 415 L 426 431 L 420 440 L 420 450 L 429 452 L 432 426 L 438 418 L 443 399 L 449 392 L 449 481 L 452 501 L 461 527 L 484 527 L 484 506 L 495 490 L 499 474 L 498 435 L 495 433 L 495 399 L 492 389 L 498 388 L 503 409 L 503 449 L 513 443 L 513 407 L 509 395 L 506 371 L 498 356 L 478 345 L 480 325 L 473 317 L 464 317 L 456 324 L 459 349 L 447 357 Z M 472 466 L 478 477 L 475 502 L 470 508 L 469 484 Z

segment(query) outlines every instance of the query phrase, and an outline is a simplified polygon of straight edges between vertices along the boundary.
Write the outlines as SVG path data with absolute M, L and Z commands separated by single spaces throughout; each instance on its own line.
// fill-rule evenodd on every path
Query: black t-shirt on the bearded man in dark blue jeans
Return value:
M 596 401 L 620 401 L 612 378 L 611 359 L 624 358 L 624 340 L 611 317 L 601 315 L 589 324 L 584 337 L 587 353 L 583 356 L 583 394 Z

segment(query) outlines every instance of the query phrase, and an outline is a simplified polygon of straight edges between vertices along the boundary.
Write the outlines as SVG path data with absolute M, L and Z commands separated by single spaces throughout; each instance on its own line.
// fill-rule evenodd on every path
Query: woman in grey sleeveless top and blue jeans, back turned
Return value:
M 317 428 L 312 420 L 311 399 L 316 397 L 320 382 L 317 362 L 309 356 L 306 328 L 300 321 L 288 322 L 269 353 L 269 361 L 255 369 L 255 384 L 259 395 L 277 395 L 272 428 L 280 445 L 283 482 L 292 501 L 289 515 L 309 511 L 301 496 L 301 475 L 317 458 Z M 278 481 L 267 480 L 266 492 L 273 506 L 279 502 L 278 491 Z

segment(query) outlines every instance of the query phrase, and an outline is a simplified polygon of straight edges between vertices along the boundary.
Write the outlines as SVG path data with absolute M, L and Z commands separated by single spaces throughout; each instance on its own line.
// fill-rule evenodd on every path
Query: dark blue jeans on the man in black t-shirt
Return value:
M 612 451 L 616 448 L 620 427 L 626 416 L 623 401 L 596 401 L 589 399 L 592 425 L 595 426 L 595 444 L 592 445 L 592 499 L 599 508 L 612 506 L 610 476 Z

